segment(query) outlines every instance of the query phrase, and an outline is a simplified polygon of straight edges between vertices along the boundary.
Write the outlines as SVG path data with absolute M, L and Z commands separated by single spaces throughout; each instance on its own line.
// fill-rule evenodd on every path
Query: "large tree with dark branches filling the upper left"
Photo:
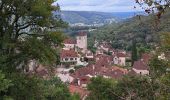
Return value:
M 57 29 L 66 24 L 53 11 L 53 0 L 0 1 L 1 66 L 25 67 L 29 60 L 53 64 L 57 60 L 54 46 L 63 35 Z

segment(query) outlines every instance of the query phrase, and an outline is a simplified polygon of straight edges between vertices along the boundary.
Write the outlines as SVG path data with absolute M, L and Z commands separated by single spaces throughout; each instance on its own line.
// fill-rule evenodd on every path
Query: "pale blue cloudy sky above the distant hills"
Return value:
M 134 12 L 140 11 L 135 0 L 57 0 L 61 10 L 100 11 L 100 12 Z M 134 9 L 134 6 L 137 8 Z

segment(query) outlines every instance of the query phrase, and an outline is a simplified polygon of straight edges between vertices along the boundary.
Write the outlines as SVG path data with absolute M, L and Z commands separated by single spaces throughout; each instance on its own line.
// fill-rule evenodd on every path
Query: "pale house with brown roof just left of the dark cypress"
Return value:
M 126 66 L 126 54 L 124 53 L 114 53 L 113 64 L 119 66 Z

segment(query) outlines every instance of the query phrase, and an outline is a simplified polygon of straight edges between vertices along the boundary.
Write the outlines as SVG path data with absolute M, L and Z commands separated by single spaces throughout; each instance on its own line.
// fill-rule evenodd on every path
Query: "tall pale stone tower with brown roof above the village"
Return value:
M 77 37 L 77 47 L 82 49 L 83 51 L 87 50 L 87 33 L 80 32 Z

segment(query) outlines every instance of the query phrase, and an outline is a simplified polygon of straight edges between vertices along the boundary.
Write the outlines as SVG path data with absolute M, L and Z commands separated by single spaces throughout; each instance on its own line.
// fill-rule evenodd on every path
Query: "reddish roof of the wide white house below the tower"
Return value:
M 74 50 L 62 50 L 60 53 L 60 58 L 67 57 L 78 57 L 78 54 Z

